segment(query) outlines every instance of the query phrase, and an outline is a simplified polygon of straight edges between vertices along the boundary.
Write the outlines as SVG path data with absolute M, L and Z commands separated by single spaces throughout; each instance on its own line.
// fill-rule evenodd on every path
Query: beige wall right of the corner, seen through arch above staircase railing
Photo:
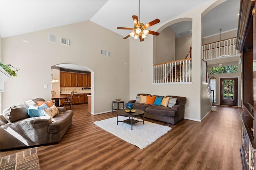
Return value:
M 176 60 L 185 59 L 190 47 L 192 47 L 192 34 L 176 39 Z M 188 56 L 190 58 L 190 55 Z

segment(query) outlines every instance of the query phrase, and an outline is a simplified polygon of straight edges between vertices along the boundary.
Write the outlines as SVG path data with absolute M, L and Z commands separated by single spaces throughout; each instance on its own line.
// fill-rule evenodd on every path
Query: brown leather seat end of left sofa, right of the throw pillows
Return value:
M 50 123 L 48 127 L 48 132 L 58 133 L 59 131 L 61 131 L 64 127 L 68 125 L 69 119 L 72 119 L 73 114 L 73 110 L 67 110 L 54 116 L 52 118 L 52 123 Z

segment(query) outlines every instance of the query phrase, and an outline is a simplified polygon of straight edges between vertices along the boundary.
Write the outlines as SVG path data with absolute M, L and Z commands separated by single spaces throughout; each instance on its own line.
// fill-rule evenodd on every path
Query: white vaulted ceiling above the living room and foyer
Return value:
M 165 23 L 209 2 L 214 1 L 140 0 L 140 21 L 148 23 L 158 18 L 160 24 Z M 219 29 L 236 29 L 239 5 L 240 0 L 227 0 L 206 14 L 203 37 L 217 34 Z M 138 0 L 0 0 L 0 36 L 10 37 L 86 20 L 126 36 L 129 30 L 116 27 L 131 27 L 132 15 L 138 16 Z M 150 29 L 156 29 L 156 25 Z M 172 29 L 179 34 L 180 29 Z

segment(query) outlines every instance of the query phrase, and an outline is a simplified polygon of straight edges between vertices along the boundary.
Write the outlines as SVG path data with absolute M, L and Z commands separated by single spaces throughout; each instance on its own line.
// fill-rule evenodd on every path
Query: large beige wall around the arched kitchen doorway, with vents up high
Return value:
M 48 33 L 57 43 L 48 41 Z M 61 45 L 60 37 L 70 39 L 70 46 Z M 111 57 L 100 55 L 100 49 L 111 51 Z M 51 66 L 61 63 L 92 72 L 94 114 L 112 111 L 115 98 L 129 99 L 129 40 L 91 21 L 3 38 L 2 61 L 20 68 L 18 77 L 6 81 L 3 108 L 32 98 L 50 100 Z

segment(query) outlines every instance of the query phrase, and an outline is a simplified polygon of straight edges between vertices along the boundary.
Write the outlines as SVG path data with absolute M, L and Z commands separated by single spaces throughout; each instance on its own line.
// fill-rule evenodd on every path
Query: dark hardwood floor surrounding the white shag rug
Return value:
M 202 122 L 183 119 L 174 126 L 145 119 L 172 130 L 141 150 L 93 124 L 116 112 L 91 115 L 87 104 L 75 105 L 72 125 L 60 143 L 37 148 L 40 166 L 42 170 L 241 170 L 240 109 L 218 107 Z

